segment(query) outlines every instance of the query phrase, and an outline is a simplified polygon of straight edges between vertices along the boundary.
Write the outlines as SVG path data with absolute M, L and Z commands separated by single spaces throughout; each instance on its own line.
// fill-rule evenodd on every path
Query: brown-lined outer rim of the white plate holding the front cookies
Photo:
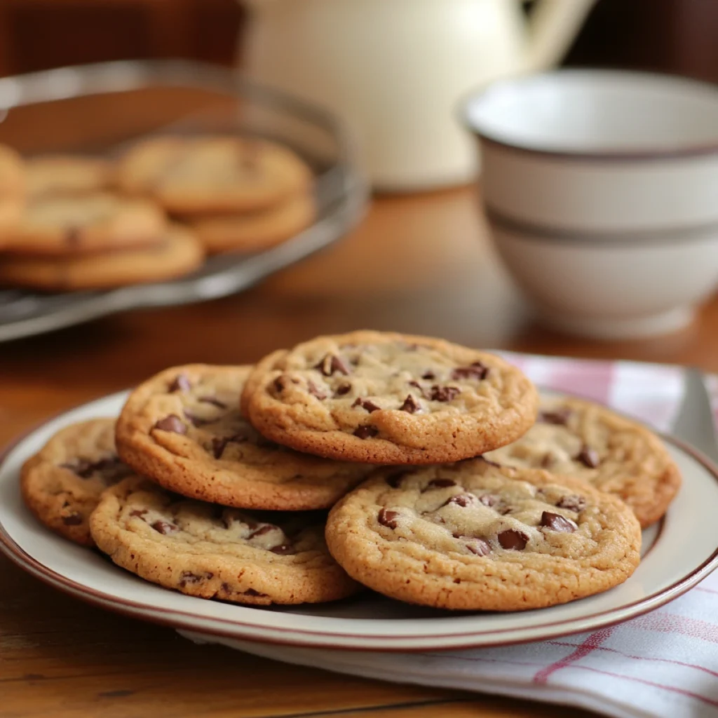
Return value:
M 129 391 L 123 389 L 113 393 L 98 396 L 89 401 L 83 401 L 80 404 L 71 406 L 62 411 L 58 411 L 51 416 L 48 416 L 41 421 L 30 426 L 19 436 L 12 439 L 8 444 L 0 449 L 0 470 L 6 464 L 9 455 L 14 452 L 19 444 L 22 444 L 32 434 L 38 432 L 43 427 L 50 424 L 52 421 L 62 419 L 66 414 L 83 409 L 85 406 L 94 404 L 98 401 L 109 400 L 121 396 L 122 394 Z M 600 402 L 595 402 L 600 404 Z M 634 419 L 639 421 L 638 419 Z M 649 427 L 650 428 L 650 427 Z M 718 466 L 705 457 L 698 449 L 691 446 L 682 439 L 665 434 L 663 432 L 656 432 L 664 442 L 672 444 L 682 452 L 686 453 L 701 465 L 709 475 L 712 476 L 714 481 L 718 482 Z M 661 519 L 660 526 L 658 526 L 658 536 L 654 541 L 654 546 L 663 533 L 664 518 Z M 651 547 L 653 548 L 653 546 Z M 651 549 L 649 549 L 650 551 Z M 676 598 L 684 595 L 689 589 L 694 587 L 697 583 L 707 577 L 714 569 L 718 568 L 718 546 L 707 559 L 694 567 L 689 572 L 684 574 L 681 578 L 677 579 L 671 585 L 659 590 L 656 593 L 651 594 L 648 597 L 630 602 L 626 605 L 600 611 L 591 615 L 584 615 L 573 619 L 563 619 L 554 623 L 544 623 L 541 626 L 527 626 L 524 628 L 499 628 L 493 629 L 490 632 L 466 632 L 456 634 L 454 636 L 447 636 L 443 633 L 439 634 L 424 634 L 421 636 L 387 636 L 380 634 L 365 634 L 365 635 L 353 635 L 353 634 L 342 634 L 337 631 L 322 631 L 322 630 L 307 630 L 302 628 L 286 628 L 284 626 L 262 626 L 255 625 L 252 623 L 245 623 L 241 620 L 230 620 L 224 617 L 205 617 L 200 616 L 192 612 L 182 611 L 177 609 L 159 608 L 150 605 L 146 605 L 141 602 L 128 600 L 123 597 L 117 597 L 99 591 L 97 589 L 87 587 L 81 583 L 76 582 L 74 579 L 65 577 L 63 574 L 55 571 L 45 564 L 42 564 L 33 556 L 30 556 L 27 551 L 22 549 L 17 541 L 12 538 L 7 532 L 5 526 L 0 521 L 0 553 L 4 554 L 13 564 L 20 569 L 41 580 L 43 583 L 59 589 L 63 593 L 70 595 L 74 598 L 78 598 L 85 603 L 101 607 L 103 610 L 110 610 L 120 615 L 126 615 L 132 618 L 139 618 L 140 620 L 147 620 L 151 623 L 157 623 L 159 625 L 167 625 L 174 629 L 190 630 L 195 633 L 201 633 L 206 636 L 216 636 L 220 638 L 230 638 L 237 640 L 247 640 L 253 643 L 272 643 L 275 645 L 291 645 L 299 648 L 318 648 L 318 649 L 333 649 L 342 651 L 379 651 L 387 653 L 404 653 L 404 652 L 421 652 L 426 650 L 431 651 L 456 651 L 467 648 L 490 648 L 505 645 L 516 645 L 521 643 L 533 643 L 538 640 L 549 640 L 551 638 L 559 638 L 561 636 L 573 635 L 575 633 L 582 633 L 586 630 L 596 630 L 598 628 L 605 628 L 611 625 L 617 625 L 623 623 L 625 620 L 630 618 L 638 617 L 647 612 L 655 610 L 658 607 L 666 605 L 667 603 L 675 600 Z M 617 617 L 618 614 L 618 617 Z M 610 617 L 607 617 L 610 616 Z M 604 617 L 603 619 L 595 620 L 597 617 Z M 583 624 L 589 622 L 589 626 Z M 202 623 L 202 625 L 197 625 Z M 581 625 L 577 625 L 581 624 Z M 533 638 L 513 638 L 509 640 L 502 640 L 498 636 L 502 633 L 513 633 L 520 631 L 522 633 L 530 633 L 537 629 L 551 626 L 564 626 L 563 629 L 549 630 L 546 632 L 542 630 L 540 636 Z M 225 630 L 221 628 L 225 626 Z M 568 627 L 568 628 L 567 628 Z M 235 630 L 232 630 L 234 628 Z M 236 629 L 244 630 L 244 633 L 238 633 Z M 257 632 L 271 632 L 272 635 L 257 635 Z M 274 634 L 285 634 L 284 637 L 275 637 Z M 316 640 L 304 639 L 302 640 L 301 635 L 311 636 Z M 485 638 L 486 635 L 493 636 L 495 638 Z M 470 638 L 473 636 L 474 638 Z M 432 641 L 444 639 L 447 645 L 427 645 Z M 452 640 L 452 638 L 456 640 Z M 464 639 L 467 640 L 464 640 Z M 333 639 L 333 641 L 332 641 Z M 406 645 L 397 645 L 396 647 L 391 645 L 355 645 L 354 643 L 345 643 L 344 640 L 360 641 L 360 640 L 396 640 L 398 643 L 404 644 L 404 642 L 410 642 Z M 421 645 L 418 645 L 421 644 Z

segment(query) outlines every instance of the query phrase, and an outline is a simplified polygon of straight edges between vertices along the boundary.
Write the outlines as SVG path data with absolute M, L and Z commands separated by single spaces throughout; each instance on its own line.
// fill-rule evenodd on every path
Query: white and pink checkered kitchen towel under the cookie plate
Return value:
M 577 393 L 667 430 L 677 367 L 506 354 L 538 386 Z M 718 420 L 718 377 L 709 378 Z M 568 704 L 615 717 L 718 717 L 718 572 L 666 606 L 593 633 L 449 653 L 252 646 L 290 663 L 370 678 Z

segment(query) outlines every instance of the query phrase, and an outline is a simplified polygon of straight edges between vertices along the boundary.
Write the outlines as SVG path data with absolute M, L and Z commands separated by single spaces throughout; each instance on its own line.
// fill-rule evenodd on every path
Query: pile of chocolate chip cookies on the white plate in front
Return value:
M 368 587 L 501 611 L 625 581 L 679 485 L 661 441 L 623 416 L 540 399 L 489 353 L 369 331 L 253 367 L 168 369 L 22 471 L 40 521 L 189 595 L 294 604 Z

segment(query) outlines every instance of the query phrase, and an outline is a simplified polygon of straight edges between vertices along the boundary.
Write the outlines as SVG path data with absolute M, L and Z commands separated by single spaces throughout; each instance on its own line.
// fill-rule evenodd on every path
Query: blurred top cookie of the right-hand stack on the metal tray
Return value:
M 153 197 L 172 213 L 261 210 L 307 190 L 312 172 L 274 142 L 228 136 L 158 137 L 118 164 L 125 192 Z

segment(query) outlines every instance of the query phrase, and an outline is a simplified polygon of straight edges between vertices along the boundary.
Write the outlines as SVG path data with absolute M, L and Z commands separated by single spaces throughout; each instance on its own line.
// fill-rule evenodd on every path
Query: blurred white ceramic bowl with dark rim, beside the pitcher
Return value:
M 645 337 L 718 288 L 718 88 L 562 70 L 495 83 L 464 114 L 498 250 L 544 320 Z

